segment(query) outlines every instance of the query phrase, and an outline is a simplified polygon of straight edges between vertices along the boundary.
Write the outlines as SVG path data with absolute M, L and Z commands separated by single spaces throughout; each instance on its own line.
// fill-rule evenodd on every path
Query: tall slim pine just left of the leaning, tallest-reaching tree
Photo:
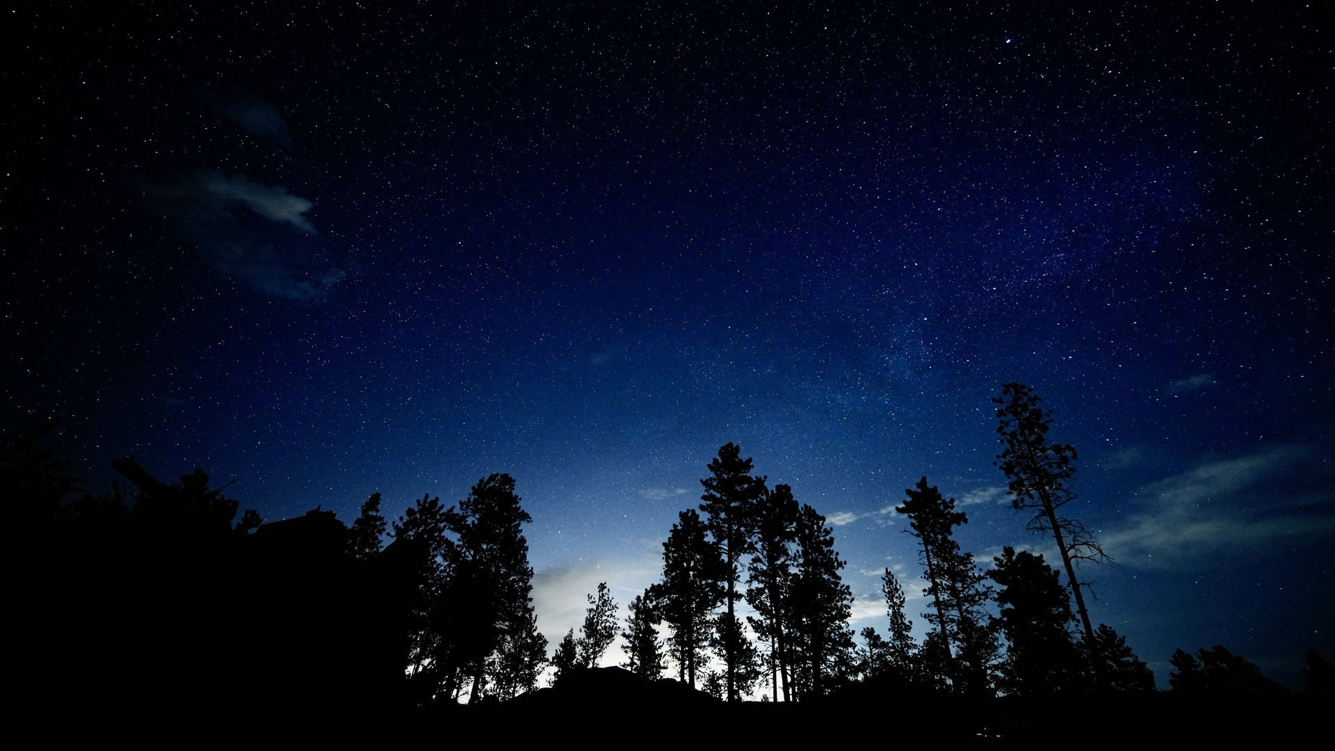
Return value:
M 926 595 L 933 611 L 922 613 L 937 627 L 945 644 L 957 647 L 959 679 L 968 694 L 988 691 L 988 665 L 996 656 L 996 628 L 984 611 L 992 591 L 973 565 L 973 556 L 960 551 L 952 537 L 956 525 L 968 516 L 955 510 L 955 498 L 918 480 L 917 489 L 905 490 L 908 500 L 896 512 L 909 517 L 910 535 L 920 541 L 920 556 L 928 579 Z M 949 651 L 949 649 L 948 649 Z

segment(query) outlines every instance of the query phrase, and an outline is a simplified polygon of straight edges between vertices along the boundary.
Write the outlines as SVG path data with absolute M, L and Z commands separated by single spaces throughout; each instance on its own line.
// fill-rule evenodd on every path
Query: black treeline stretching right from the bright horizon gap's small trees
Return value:
M 969 698 L 1155 691 L 1151 669 L 1113 628 L 1093 625 L 1084 601 L 1088 584 L 1076 567 L 1105 556 L 1068 508 L 1076 498 L 1075 448 L 1048 438 L 1051 413 L 1028 386 L 1007 384 L 992 401 L 996 465 L 1012 506 L 1031 532 L 1051 537 L 1060 571 L 1043 555 L 1009 547 L 983 571 L 955 541 L 967 514 L 922 477 L 894 510 L 917 540 L 926 583 L 921 615 L 930 628 L 921 644 L 914 640 L 904 587 L 886 568 L 888 639 L 868 627 L 857 644 L 848 627 L 853 597 L 825 518 L 790 486 L 770 488 L 728 444 L 701 480 L 701 505 L 681 512 L 663 543 L 662 579 L 630 604 L 622 667 L 658 679 L 670 661 L 678 680 L 729 702 L 757 691 L 764 700 L 794 702 L 869 687 Z M 745 625 L 742 603 L 750 609 Z M 597 604 L 602 613 L 614 609 L 603 585 Z M 558 675 L 597 664 L 601 649 L 591 659 L 577 649 L 595 632 L 586 620 L 586 636 L 566 635 L 553 656 Z M 605 643 L 615 635 L 601 632 Z M 583 657 L 567 656 L 575 653 Z M 1307 660 L 1310 691 L 1330 692 L 1330 663 L 1315 652 Z M 1223 647 L 1196 657 L 1179 649 L 1172 665 L 1169 686 L 1183 694 L 1282 690 Z

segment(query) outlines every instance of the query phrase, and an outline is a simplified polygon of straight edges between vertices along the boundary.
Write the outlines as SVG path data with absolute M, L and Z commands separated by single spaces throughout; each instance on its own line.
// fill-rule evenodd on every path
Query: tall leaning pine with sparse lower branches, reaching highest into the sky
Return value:
M 1029 510 L 1029 532 L 1051 533 L 1061 555 L 1061 565 L 1067 569 L 1071 593 L 1076 599 L 1076 609 L 1084 627 L 1085 641 L 1095 643 L 1089 611 L 1085 609 L 1084 593 L 1072 561 L 1104 560 L 1103 548 L 1093 535 L 1079 520 L 1061 516 L 1064 505 L 1075 500 L 1071 478 L 1075 476 L 1075 446 L 1048 441 L 1052 426 L 1052 413 L 1039 408 L 1043 401 L 1023 384 L 1005 384 L 1001 396 L 993 398 L 997 405 L 997 433 L 1005 449 L 997 454 L 1001 472 L 1011 481 L 1008 493 L 1016 510 Z

